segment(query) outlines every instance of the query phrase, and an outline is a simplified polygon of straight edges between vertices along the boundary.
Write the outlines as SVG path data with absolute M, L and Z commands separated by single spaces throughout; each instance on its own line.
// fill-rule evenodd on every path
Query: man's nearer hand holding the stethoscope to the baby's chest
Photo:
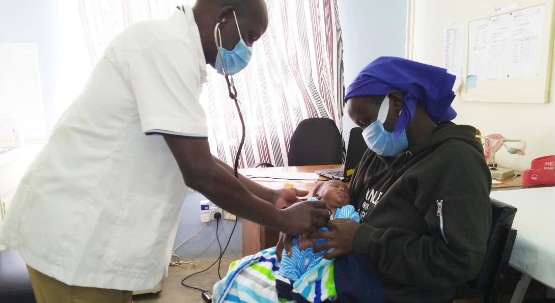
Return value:
M 306 235 L 330 221 L 324 201 L 302 201 L 280 210 L 279 231 L 289 235 Z

